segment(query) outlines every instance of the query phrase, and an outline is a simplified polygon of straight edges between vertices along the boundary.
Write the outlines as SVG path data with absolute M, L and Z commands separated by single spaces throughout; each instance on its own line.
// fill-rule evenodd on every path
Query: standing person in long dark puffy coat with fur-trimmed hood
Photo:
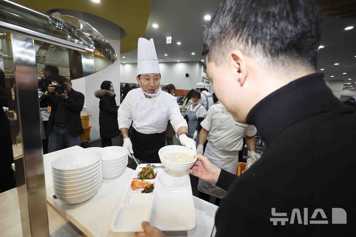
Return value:
M 95 97 L 99 102 L 99 126 L 101 146 L 112 146 L 111 138 L 119 135 L 119 125 L 117 120 L 118 106 L 116 105 L 114 87 L 111 81 L 104 80 L 100 85 L 100 90 L 95 91 Z

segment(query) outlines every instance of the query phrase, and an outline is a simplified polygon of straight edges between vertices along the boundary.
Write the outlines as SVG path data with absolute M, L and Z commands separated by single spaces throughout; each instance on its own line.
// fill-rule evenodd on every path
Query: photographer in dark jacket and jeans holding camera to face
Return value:
M 80 146 L 80 135 L 84 133 L 80 113 L 84 106 L 84 95 L 72 88 L 65 77 L 56 76 L 57 85 L 50 84 L 40 97 L 40 106 L 51 106 L 46 133 L 49 135 L 48 153 L 67 147 Z

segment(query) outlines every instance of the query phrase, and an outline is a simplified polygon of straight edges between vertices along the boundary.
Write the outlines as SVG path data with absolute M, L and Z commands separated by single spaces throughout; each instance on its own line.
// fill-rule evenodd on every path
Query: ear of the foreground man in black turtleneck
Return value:
M 231 70 L 233 70 L 234 78 L 243 86 L 247 78 L 245 55 L 240 50 L 232 50 L 229 55 L 229 63 Z

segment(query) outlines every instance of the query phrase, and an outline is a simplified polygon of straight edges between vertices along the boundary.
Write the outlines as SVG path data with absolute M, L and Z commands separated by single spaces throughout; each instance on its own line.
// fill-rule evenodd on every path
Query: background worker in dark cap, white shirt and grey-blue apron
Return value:
M 188 117 L 188 135 L 198 143 L 198 133 L 201 130 L 200 123 L 204 120 L 207 111 L 199 104 L 200 93 L 194 91 L 191 98 L 192 104 L 188 106 L 186 114 Z

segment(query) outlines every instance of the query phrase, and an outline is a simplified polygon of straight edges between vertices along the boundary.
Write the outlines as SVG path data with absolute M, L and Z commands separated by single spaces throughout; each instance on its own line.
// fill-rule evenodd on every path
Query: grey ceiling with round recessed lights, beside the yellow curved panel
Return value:
M 212 15 L 219 3 L 220 0 L 152 0 L 143 37 L 153 38 L 157 57 L 164 58 L 159 61 L 205 60 L 201 56 L 202 34 L 207 24 L 204 16 Z M 152 27 L 154 23 L 158 24 L 158 28 Z M 350 25 L 355 28 L 345 31 L 344 28 Z M 166 35 L 173 36 L 171 44 L 166 44 Z M 178 41 L 181 45 L 177 44 Z M 325 80 L 344 80 L 356 85 L 356 20 L 323 15 L 321 45 L 325 47 L 318 52 L 317 69 L 325 74 Z M 191 55 L 192 52 L 195 55 Z M 168 56 L 164 56 L 165 53 Z M 123 56 L 126 58 L 123 59 Z M 121 62 L 136 63 L 137 49 L 121 54 Z M 339 65 L 334 66 L 334 63 Z M 320 71 L 321 68 L 325 70 Z

